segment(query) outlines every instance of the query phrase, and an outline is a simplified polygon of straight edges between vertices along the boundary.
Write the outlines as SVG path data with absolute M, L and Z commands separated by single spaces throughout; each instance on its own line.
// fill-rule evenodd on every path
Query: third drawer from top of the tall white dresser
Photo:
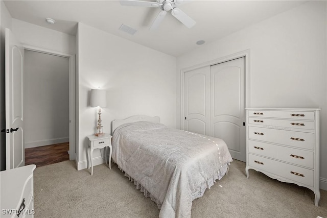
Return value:
M 248 137 L 249 139 L 314 150 L 314 133 L 249 126 Z

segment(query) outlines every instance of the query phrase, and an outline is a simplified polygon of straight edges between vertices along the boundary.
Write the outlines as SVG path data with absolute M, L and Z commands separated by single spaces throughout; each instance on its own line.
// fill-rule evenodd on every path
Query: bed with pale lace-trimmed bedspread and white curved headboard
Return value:
M 232 161 L 222 139 L 168 128 L 157 116 L 116 119 L 111 129 L 113 161 L 158 205 L 159 217 L 191 217 L 192 201 Z

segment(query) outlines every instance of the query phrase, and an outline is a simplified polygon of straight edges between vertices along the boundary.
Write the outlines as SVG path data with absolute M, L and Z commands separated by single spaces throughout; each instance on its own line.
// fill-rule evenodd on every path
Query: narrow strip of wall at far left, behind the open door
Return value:
M 5 29 L 11 29 L 11 15 L 4 4 L 0 1 L 0 129 L 6 128 L 5 113 Z M 0 134 L 0 170 L 6 169 L 6 134 Z

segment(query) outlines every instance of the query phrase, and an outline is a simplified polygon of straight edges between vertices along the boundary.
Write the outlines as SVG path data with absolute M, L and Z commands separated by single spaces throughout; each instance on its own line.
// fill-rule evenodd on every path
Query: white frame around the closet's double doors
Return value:
M 220 64 L 226 61 L 231 61 L 233 59 L 245 57 L 245 108 L 250 105 L 250 50 L 241 51 L 235 54 L 227 55 L 215 60 L 200 63 L 194 66 L 185 67 L 180 70 L 180 128 L 182 130 L 184 127 L 184 74 L 187 71 L 195 70 L 205 66 L 211 66 L 215 64 Z

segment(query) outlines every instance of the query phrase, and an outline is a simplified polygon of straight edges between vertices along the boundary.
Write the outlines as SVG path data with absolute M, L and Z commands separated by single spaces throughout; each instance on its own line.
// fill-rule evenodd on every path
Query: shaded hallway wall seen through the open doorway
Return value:
M 25 51 L 25 148 L 69 141 L 69 61 Z

